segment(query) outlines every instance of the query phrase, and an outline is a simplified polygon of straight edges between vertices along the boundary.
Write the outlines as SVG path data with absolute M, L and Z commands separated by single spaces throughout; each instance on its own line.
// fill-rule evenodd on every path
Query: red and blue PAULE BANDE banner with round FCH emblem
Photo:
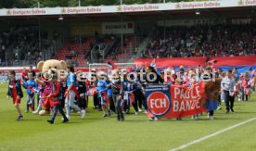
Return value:
M 203 97 L 203 82 L 192 87 L 147 85 L 147 117 L 178 118 L 205 112 L 207 110 L 201 105 Z

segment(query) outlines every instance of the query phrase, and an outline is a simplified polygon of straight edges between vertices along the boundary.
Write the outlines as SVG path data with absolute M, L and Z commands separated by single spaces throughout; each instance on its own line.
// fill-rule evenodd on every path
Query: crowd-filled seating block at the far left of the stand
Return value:
M 41 43 L 37 27 L 11 26 L 0 35 L 1 66 L 35 64 L 49 58 L 48 50 L 52 42 L 47 39 L 47 32 L 41 31 Z M 41 50 L 40 50 L 41 49 Z M 6 60 L 6 63 L 2 63 Z

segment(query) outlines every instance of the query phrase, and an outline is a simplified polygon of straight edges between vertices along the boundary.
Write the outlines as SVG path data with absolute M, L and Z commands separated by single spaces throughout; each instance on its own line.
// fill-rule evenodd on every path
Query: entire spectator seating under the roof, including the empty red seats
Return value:
M 13 26 L 0 35 L 0 66 L 4 66 L 5 60 L 8 60 L 7 66 L 15 66 L 28 64 L 28 61 L 32 64 L 44 58 L 56 58 L 64 59 L 75 67 L 84 67 L 92 60 L 91 50 L 105 48 L 107 53 L 104 58 L 115 62 L 127 62 L 133 57 L 233 57 L 256 54 L 256 29 L 253 23 L 176 26 L 168 27 L 165 33 L 162 28 L 156 27 L 153 33 L 147 37 L 151 41 L 145 50 L 136 50 L 143 43 L 143 38 L 135 34 L 124 34 L 123 47 L 119 36 L 99 35 L 84 38 L 81 44 L 79 38 L 72 38 L 56 54 L 45 55 L 52 45 L 47 40 L 46 31 L 41 31 L 40 51 L 36 28 Z M 138 52 L 141 55 L 134 56 Z

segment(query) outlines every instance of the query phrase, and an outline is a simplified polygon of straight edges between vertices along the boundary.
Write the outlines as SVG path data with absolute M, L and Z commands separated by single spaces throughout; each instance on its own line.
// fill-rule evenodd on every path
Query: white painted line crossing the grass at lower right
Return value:
M 189 145 L 197 144 L 197 143 L 199 143 L 199 142 L 201 142 L 201 141 L 204 141 L 204 140 L 206 140 L 206 139 L 208 139 L 208 138 L 211 138 L 211 137 L 213 137 L 213 136 L 216 136 L 216 135 L 218 135 L 218 134 L 220 134 L 220 133 L 227 132 L 227 131 L 232 130 L 232 129 L 238 127 L 238 126 L 241 126 L 241 125 L 243 125 L 243 124 L 246 124 L 246 123 L 248 123 L 248 122 L 250 122 L 250 121 L 252 121 L 252 120 L 256 120 L 256 118 L 252 118 L 252 119 L 250 119 L 250 120 L 245 120 L 245 121 L 242 121 L 242 122 L 240 122 L 240 123 L 237 123 L 236 125 L 233 125 L 233 126 L 230 126 L 230 127 L 228 127 L 228 128 L 225 128 L 225 129 L 222 130 L 222 131 L 211 133 L 211 134 L 206 135 L 206 136 L 204 136 L 204 137 L 201 137 L 201 138 L 199 138 L 199 139 L 197 139 L 197 140 L 195 140 L 195 141 L 192 141 L 192 142 L 190 142 L 190 143 L 188 143 L 188 144 L 186 144 L 186 145 L 181 145 L 181 146 L 179 146 L 179 147 L 177 147 L 177 148 L 173 148 L 173 149 L 171 149 L 171 151 L 176 151 L 176 150 L 184 149 L 184 148 L 188 147 Z

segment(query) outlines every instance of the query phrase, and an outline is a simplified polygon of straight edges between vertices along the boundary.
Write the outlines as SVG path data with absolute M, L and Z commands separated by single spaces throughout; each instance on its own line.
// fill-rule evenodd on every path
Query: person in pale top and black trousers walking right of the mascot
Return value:
M 234 88 L 236 86 L 235 79 L 232 77 L 232 70 L 228 69 L 226 72 L 226 76 L 224 77 L 221 83 L 222 89 L 224 90 L 224 102 L 226 107 L 226 114 L 234 112 Z

